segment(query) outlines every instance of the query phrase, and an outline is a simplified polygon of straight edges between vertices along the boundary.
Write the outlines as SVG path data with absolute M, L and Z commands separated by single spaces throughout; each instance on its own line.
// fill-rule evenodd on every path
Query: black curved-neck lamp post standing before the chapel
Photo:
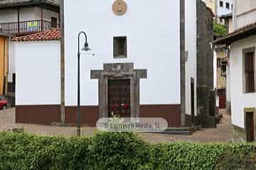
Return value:
M 87 42 L 87 35 L 84 31 L 81 31 L 78 34 L 78 111 L 77 111 L 77 135 L 80 137 L 81 129 L 80 129 L 80 35 L 85 35 L 85 44 L 81 50 L 83 51 L 90 51 L 90 47 Z

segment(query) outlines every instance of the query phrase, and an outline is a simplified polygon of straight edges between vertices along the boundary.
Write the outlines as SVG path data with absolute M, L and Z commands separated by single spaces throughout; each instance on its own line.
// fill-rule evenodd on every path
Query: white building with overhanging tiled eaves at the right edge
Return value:
M 236 0 L 233 33 L 215 40 L 215 45 L 230 45 L 230 94 L 232 124 L 237 140 L 255 140 L 255 46 L 256 1 Z

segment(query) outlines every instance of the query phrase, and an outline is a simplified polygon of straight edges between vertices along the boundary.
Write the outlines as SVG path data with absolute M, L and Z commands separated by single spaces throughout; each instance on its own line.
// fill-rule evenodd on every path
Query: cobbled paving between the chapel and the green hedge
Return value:
M 139 133 L 139 137 L 147 142 L 231 142 L 232 126 L 230 123 L 230 115 L 223 113 L 223 120 L 218 128 L 209 128 L 206 130 L 199 130 L 193 135 L 162 135 L 151 133 Z M 15 108 L 6 111 L 0 111 L 0 131 L 11 130 L 12 128 L 23 128 L 25 132 L 37 135 L 60 135 L 60 136 L 74 136 L 76 135 L 75 127 L 54 127 L 46 125 L 28 125 L 28 124 L 15 124 Z M 93 135 L 97 130 L 95 128 L 82 128 L 82 135 Z

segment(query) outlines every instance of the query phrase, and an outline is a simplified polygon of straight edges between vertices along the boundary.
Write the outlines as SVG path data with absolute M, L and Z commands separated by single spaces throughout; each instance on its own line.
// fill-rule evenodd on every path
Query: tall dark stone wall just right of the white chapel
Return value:
M 197 0 L 197 100 L 198 120 L 210 117 L 210 91 L 213 90 L 213 13 L 201 0 Z M 214 98 L 213 98 L 214 99 Z M 200 117 L 203 117 L 200 118 Z M 209 118 L 214 121 L 214 118 Z M 204 121 L 206 124 L 209 121 Z M 211 121 L 210 121 L 211 122 Z M 202 123 L 200 123 L 202 124 Z M 204 123 L 203 123 L 204 124 Z M 208 125 L 206 125 L 208 127 Z

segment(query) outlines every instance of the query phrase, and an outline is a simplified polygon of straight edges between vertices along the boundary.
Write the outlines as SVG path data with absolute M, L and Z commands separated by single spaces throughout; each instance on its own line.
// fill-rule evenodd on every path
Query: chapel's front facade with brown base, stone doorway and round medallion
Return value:
M 95 56 L 81 57 L 85 122 L 110 116 L 114 110 L 124 117 L 165 118 L 169 126 L 185 124 L 182 109 L 185 111 L 186 105 L 182 108 L 181 103 L 186 89 L 185 77 L 181 80 L 181 58 L 185 57 L 183 1 L 66 0 L 64 6 L 68 123 L 76 120 L 77 35 L 83 30 L 95 52 Z M 196 28 L 191 34 L 196 35 Z M 190 73 L 193 79 L 194 71 Z M 124 110 L 122 103 L 129 109 Z

